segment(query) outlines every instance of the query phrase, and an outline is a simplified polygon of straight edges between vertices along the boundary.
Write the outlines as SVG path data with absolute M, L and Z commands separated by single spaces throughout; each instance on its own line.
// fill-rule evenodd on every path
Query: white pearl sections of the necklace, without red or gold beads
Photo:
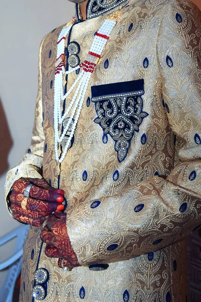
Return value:
M 116 23 L 117 23 L 116 21 L 105 20 L 104 23 L 102 24 L 102 26 L 100 26 L 97 33 L 109 37 L 113 28 L 115 27 Z M 70 28 L 71 28 L 71 26 L 68 26 L 68 27 L 62 29 L 62 31 L 59 35 L 59 38 L 58 38 L 59 43 L 57 46 L 57 58 L 60 58 L 61 55 L 64 54 L 65 38 L 66 38 L 66 35 L 69 32 Z M 107 43 L 106 38 L 95 35 L 89 52 L 95 53 L 98 56 L 100 56 L 104 50 L 106 43 Z M 55 82 L 54 82 L 54 136 L 55 136 L 55 143 L 54 143 L 54 145 L 55 145 L 56 161 L 58 163 L 61 163 L 63 161 L 63 159 L 66 156 L 67 150 L 69 148 L 71 139 L 73 137 L 73 134 L 74 134 L 74 131 L 75 131 L 78 119 L 79 119 L 79 115 L 81 112 L 81 108 L 83 105 L 83 101 L 85 98 L 86 90 L 87 90 L 88 83 L 89 83 L 92 72 L 88 71 L 89 68 L 91 68 L 91 67 L 89 67 L 88 70 L 87 70 L 87 68 L 85 68 L 86 70 L 82 69 L 80 74 L 78 75 L 77 79 L 74 81 L 74 83 L 72 84 L 72 86 L 69 88 L 68 92 L 65 95 L 63 93 L 63 74 L 69 74 L 81 67 L 82 67 L 82 65 L 78 65 L 68 71 L 65 71 L 64 66 L 61 66 L 60 68 L 62 69 L 62 72 L 60 72 L 61 70 L 59 69 L 59 72 L 55 73 Z M 56 71 L 58 71 L 58 69 L 56 69 Z M 76 85 L 77 85 L 77 88 L 74 92 L 73 98 L 72 98 L 67 110 L 62 115 L 61 102 L 64 101 L 70 95 L 70 93 L 73 91 L 73 89 L 76 87 Z M 63 129 L 63 132 L 59 136 L 59 128 L 60 128 L 59 125 L 62 124 L 62 122 L 64 121 L 66 116 L 69 114 L 71 109 L 72 109 L 72 112 L 68 118 L 68 122 L 67 122 L 65 128 Z M 74 122 L 71 127 L 70 135 L 67 138 L 66 145 L 65 145 L 64 150 L 59 159 L 58 143 L 60 143 L 62 141 L 62 139 L 64 138 L 64 136 L 66 135 L 73 118 L 74 118 Z

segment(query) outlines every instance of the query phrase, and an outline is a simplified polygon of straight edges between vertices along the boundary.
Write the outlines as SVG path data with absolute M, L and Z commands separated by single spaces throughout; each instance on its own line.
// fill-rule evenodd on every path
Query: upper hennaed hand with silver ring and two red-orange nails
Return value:
M 30 197 L 25 197 L 24 191 L 30 184 Z M 41 226 L 53 211 L 64 209 L 63 195 L 63 190 L 52 188 L 44 179 L 20 178 L 9 196 L 13 217 L 22 223 Z

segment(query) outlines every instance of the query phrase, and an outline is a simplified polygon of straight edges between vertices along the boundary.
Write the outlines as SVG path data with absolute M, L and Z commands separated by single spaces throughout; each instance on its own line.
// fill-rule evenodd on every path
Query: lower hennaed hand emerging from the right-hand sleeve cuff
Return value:
M 46 243 L 46 256 L 59 258 L 60 268 L 63 268 L 62 264 L 69 269 L 80 266 L 67 233 L 66 213 L 55 212 L 48 217 L 47 224 L 41 233 L 41 240 Z

